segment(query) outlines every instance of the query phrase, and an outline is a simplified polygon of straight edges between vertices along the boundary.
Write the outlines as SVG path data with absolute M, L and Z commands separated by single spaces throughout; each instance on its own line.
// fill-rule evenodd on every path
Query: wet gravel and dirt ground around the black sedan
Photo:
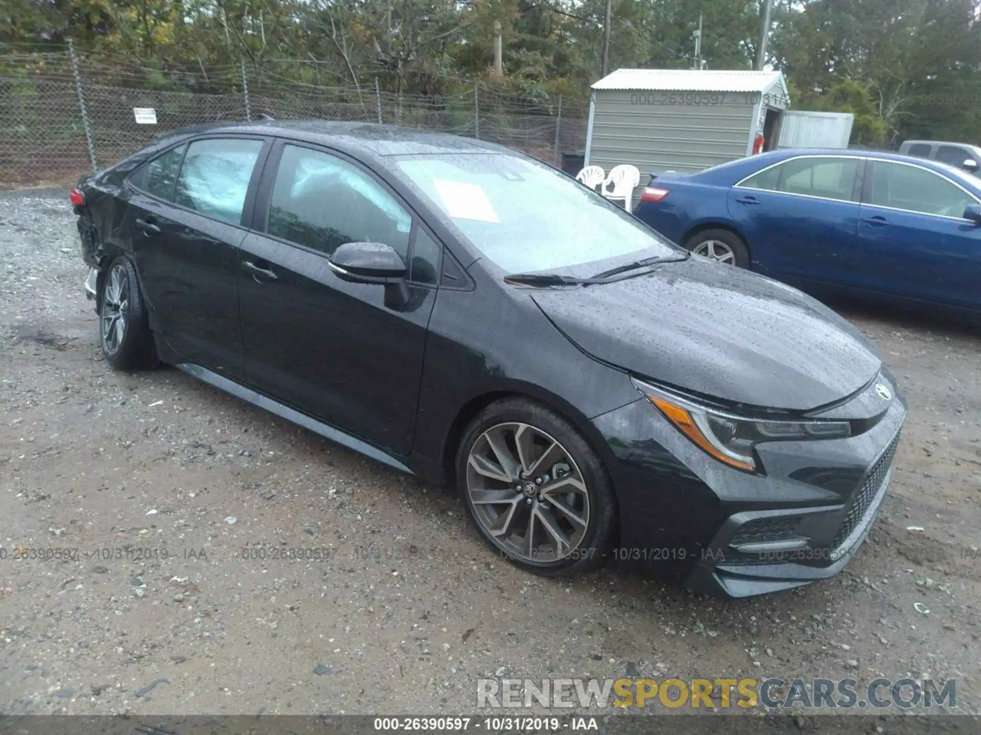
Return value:
M 976 328 L 846 311 L 910 405 L 884 512 L 836 579 L 726 603 L 526 574 L 436 488 L 175 369 L 112 371 L 64 192 L 0 195 L 0 253 L 0 712 L 459 713 L 480 677 L 628 673 L 956 677 L 978 711 Z M 272 559 L 296 548 L 327 551 Z

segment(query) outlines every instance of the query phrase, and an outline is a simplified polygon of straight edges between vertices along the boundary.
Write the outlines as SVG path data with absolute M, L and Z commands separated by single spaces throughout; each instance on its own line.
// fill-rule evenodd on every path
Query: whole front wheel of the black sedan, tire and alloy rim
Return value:
M 503 399 L 474 417 L 456 482 L 490 547 L 537 574 L 583 571 L 615 541 L 616 498 L 602 461 L 566 418 L 535 401 Z

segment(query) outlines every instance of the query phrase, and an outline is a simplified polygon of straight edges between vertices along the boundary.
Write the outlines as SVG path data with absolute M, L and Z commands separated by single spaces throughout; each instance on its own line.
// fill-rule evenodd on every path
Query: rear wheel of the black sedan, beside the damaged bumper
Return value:
M 120 256 L 109 265 L 99 290 L 99 345 L 118 370 L 153 368 L 159 362 L 136 270 Z

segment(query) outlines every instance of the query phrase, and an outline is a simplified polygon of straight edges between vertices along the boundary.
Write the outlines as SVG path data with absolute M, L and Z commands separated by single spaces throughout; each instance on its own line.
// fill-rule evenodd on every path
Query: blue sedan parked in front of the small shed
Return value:
M 981 180 L 946 164 L 775 151 L 651 174 L 634 214 L 699 255 L 804 290 L 981 312 Z

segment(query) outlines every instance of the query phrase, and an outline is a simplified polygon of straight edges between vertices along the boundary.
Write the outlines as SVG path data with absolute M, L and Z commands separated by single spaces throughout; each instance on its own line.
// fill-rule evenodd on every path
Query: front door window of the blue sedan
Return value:
M 876 161 L 872 166 L 868 201 L 876 207 L 939 217 L 963 217 L 977 200 L 939 173 L 916 166 Z

